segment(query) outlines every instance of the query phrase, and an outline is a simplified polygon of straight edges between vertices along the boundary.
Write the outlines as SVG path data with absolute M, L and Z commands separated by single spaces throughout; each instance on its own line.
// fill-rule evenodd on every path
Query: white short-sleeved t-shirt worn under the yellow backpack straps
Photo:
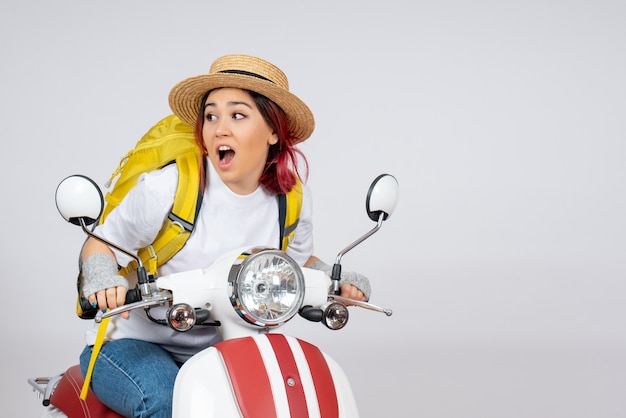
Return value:
M 207 186 L 193 233 L 185 246 L 159 269 L 160 275 L 205 268 L 227 251 L 245 246 L 279 246 L 278 201 L 263 187 L 249 195 L 233 193 L 207 164 Z M 170 164 L 142 175 L 120 205 L 107 217 L 96 233 L 136 252 L 149 245 L 161 229 L 174 201 L 178 169 Z M 294 239 L 287 254 L 303 265 L 313 254 L 311 193 L 303 185 L 302 210 Z M 125 266 L 130 258 L 115 251 Z M 165 308 L 153 308 L 152 316 L 163 317 Z M 87 331 L 86 342 L 93 344 L 97 328 Z M 132 312 L 129 319 L 111 318 L 108 340 L 135 338 L 162 345 L 177 361 L 185 361 L 198 351 L 219 341 L 212 327 L 195 327 L 187 332 L 150 321 L 143 311 Z

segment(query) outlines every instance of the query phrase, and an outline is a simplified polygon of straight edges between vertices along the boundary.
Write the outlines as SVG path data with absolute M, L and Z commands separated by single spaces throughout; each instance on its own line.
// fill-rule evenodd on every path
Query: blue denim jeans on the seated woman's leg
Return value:
M 92 347 L 80 355 L 87 372 Z M 156 344 L 121 339 L 102 346 L 91 377 L 91 390 L 105 405 L 125 417 L 172 416 L 172 395 L 179 366 Z

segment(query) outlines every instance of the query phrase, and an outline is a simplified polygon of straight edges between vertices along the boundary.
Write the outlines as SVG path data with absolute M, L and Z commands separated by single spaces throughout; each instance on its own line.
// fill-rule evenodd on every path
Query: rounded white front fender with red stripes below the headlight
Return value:
M 174 418 L 358 417 L 340 366 L 317 347 L 282 334 L 216 344 L 181 368 Z

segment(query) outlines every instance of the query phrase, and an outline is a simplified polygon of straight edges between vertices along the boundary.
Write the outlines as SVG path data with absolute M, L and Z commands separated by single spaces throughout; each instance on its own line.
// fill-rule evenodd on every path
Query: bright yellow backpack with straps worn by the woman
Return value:
M 172 210 L 152 245 L 142 248 L 137 254 L 146 266 L 148 274 L 155 274 L 158 266 L 183 248 L 193 231 L 204 192 L 200 188 L 199 153 L 193 128 L 177 116 L 170 115 L 150 128 L 135 147 L 120 160 L 119 166 L 106 184 L 109 188 L 115 181 L 113 188 L 105 195 L 106 204 L 100 216 L 100 224 L 137 184 L 142 173 L 172 163 L 178 166 L 178 186 Z M 280 241 L 277 244 L 284 251 L 298 225 L 302 208 L 302 184 L 297 180 L 287 195 L 277 197 L 280 225 Z M 130 263 L 120 271 L 120 274 L 126 275 L 136 269 L 137 266 L 134 264 Z M 78 316 L 84 319 L 93 318 L 91 312 L 88 313 L 87 310 L 81 307 L 79 297 L 76 307 Z

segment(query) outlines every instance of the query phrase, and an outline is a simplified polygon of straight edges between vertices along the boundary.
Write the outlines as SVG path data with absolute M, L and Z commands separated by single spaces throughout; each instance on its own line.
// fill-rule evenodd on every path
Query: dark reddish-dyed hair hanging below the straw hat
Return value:
M 278 142 L 270 146 L 267 161 L 265 162 L 265 169 L 261 174 L 259 183 L 272 193 L 286 194 L 291 191 L 296 184 L 296 178 L 294 176 L 298 176 L 298 178 L 302 180 L 300 170 L 298 169 L 298 157 L 302 158 L 306 170 L 305 173 L 308 173 L 308 161 L 302 151 L 295 145 L 299 138 L 294 137 L 289 131 L 287 115 L 285 115 L 285 112 L 283 112 L 276 103 L 257 92 L 250 90 L 244 91 L 252 97 L 263 119 L 278 136 Z M 196 143 L 201 150 L 200 181 L 202 182 L 202 187 L 204 187 L 206 176 L 204 158 L 208 155 L 208 151 L 204 145 L 204 139 L 202 138 L 202 128 L 204 126 L 204 108 L 202 105 L 206 102 L 209 93 L 211 93 L 211 91 L 208 91 L 202 97 L 200 111 L 198 112 L 198 119 L 196 121 Z

